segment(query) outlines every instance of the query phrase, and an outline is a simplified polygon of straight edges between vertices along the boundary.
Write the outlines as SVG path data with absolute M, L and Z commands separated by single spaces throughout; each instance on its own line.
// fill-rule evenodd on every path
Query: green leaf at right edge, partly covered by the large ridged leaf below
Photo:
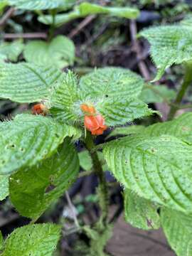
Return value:
M 182 139 L 187 144 L 192 144 L 192 113 L 181 114 L 169 122 L 152 124 L 143 129 L 142 134 L 151 137 L 168 134 Z

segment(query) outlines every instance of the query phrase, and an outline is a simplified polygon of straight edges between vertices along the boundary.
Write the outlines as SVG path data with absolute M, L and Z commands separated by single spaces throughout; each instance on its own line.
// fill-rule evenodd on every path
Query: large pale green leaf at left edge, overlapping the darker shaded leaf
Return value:
M 19 114 L 0 124 L 0 174 L 11 174 L 48 158 L 75 127 L 58 124 L 49 117 Z

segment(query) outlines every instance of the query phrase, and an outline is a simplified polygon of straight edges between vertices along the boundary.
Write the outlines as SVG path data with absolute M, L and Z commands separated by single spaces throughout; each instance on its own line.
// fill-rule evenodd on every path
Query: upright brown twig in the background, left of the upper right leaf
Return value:
M 134 52 L 137 54 L 139 70 L 142 73 L 145 80 L 149 81 L 151 79 L 151 76 L 149 74 L 149 70 L 146 68 L 146 64 L 144 63 L 144 60 L 142 60 L 142 50 L 139 45 L 139 42 L 137 41 L 137 24 L 136 24 L 136 21 L 134 20 L 130 21 L 130 33 L 132 38 L 133 49 L 134 49 Z

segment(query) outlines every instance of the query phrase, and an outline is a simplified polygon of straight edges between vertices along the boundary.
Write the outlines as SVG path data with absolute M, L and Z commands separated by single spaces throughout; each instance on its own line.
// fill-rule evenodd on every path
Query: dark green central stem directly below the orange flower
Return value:
M 90 132 L 87 132 L 87 136 L 85 138 L 85 146 L 92 158 L 93 170 L 97 175 L 97 177 L 99 178 L 98 194 L 99 194 L 100 208 L 102 211 L 102 214 L 100 216 L 100 221 L 102 224 L 106 226 L 107 215 L 108 215 L 108 205 L 109 205 L 107 181 L 105 179 L 105 174 L 102 171 L 102 164 L 100 163 L 100 159 L 98 158 L 97 152 L 92 151 L 92 149 L 95 147 L 95 144 L 93 142 L 92 135 L 90 134 Z

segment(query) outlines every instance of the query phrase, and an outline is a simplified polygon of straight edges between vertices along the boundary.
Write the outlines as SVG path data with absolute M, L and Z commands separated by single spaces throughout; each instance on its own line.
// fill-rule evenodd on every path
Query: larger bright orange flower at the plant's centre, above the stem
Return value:
M 92 135 L 101 135 L 107 129 L 107 125 L 105 125 L 105 119 L 101 114 L 97 114 L 95 116 L 85 115 L 84 124 L 86 129 L 90 131 Z

